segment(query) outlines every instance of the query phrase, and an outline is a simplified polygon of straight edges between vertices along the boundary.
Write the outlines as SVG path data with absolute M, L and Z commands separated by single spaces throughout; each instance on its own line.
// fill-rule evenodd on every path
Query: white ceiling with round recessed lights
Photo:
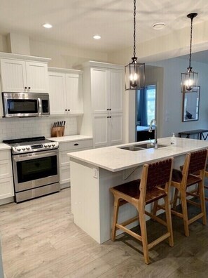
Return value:
M 207 0 L 137 0 L 137 43 L 208 20 Z M 154 30 L 155 22 L 165 29 Z M 52 29 L 41 25 L 50 22 Z M 133 0 L 0 0 L 0 34 L 16 32 L 105 53 L 132 46 Z M 100 34 L 95 41 L 92 36 Z

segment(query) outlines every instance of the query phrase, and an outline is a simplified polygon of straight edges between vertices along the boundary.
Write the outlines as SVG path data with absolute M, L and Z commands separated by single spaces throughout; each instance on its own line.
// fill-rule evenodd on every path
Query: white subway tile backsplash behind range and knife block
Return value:
M 66 121 L 64 135 L 77 134 L 76 117 L 3 118 L 0 119 L 0 142 L 34 136 L 50 137 L 50 129 L 55 121 Z

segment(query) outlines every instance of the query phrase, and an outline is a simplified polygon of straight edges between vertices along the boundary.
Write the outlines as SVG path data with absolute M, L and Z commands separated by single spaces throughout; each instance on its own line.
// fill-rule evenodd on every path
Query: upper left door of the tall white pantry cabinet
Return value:
M 91 69 L 92 112 L 104 113 L 109 107 L 109 72 L 107 69 Z

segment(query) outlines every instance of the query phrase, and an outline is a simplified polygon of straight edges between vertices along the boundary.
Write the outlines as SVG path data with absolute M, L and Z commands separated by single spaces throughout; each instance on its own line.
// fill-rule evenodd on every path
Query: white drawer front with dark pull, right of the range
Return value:
M 92 139 L 88 140 L 78 140 L 78 141 L 71 141 L 66 143 L 60 143 L 60 151 L 74 151 L 79 149 L 91 148 L 92 147 Z

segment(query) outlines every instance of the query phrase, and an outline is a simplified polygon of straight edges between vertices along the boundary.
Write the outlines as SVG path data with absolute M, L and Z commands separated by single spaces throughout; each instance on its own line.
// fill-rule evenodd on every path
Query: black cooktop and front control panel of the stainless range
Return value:
M 57 149 L 59 146 L 58 142 L 48 140 L 44 136 L 4 140 L 3 143 L 6 143 L 12 147 L 12 154 L 41 152 L 43 150 L 46 151 Z

